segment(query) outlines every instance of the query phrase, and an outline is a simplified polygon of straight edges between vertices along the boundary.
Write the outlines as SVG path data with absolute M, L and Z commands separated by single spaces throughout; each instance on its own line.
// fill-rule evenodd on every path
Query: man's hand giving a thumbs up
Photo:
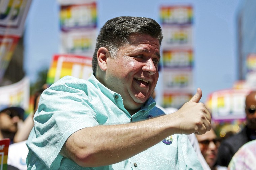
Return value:
M 197 89 L 196 94 L 185 103 L 175 116 L 175 126 L 179 134 L 204 134 L 211 129 L 211 115 L 203 103 L 199 103 L 202 90 Z

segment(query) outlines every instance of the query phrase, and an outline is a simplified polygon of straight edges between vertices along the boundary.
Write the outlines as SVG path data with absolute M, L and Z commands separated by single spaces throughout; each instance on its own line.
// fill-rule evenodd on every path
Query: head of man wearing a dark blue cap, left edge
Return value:
M 18 130 L 18 122 L 23 120 L 24 110 L 20 107 L 0 107 L 0 139 L 10 138 L 13 143 Z

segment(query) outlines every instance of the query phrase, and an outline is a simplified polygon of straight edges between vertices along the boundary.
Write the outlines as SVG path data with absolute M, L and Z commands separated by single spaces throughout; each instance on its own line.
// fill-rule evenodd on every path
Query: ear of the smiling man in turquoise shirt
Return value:
M 97 60 L 99 67 L 102 71 L 107 70 L 107 58 L 110 57 L 108 49 L 105 47 L 100 47 L 97 52 Z

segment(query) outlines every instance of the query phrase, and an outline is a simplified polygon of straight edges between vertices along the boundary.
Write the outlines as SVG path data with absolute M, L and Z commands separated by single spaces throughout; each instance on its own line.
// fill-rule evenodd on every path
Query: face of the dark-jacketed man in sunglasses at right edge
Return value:
M 256 93 L 251 93 L 247 96 L 245 102 L 245 113 L 247 126 L 250 129 L 256 130 Z

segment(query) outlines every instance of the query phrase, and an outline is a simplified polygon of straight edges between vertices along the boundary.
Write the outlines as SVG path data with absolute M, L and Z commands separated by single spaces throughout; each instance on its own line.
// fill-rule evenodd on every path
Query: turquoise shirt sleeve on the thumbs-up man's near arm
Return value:
M 59 152 L 71 134 L 98 125 L 86 84 L 67 82 L 62 80 L 43 92 L 34 116 L 29 147 L 48 168 L 60 164 L 63 157 Z

